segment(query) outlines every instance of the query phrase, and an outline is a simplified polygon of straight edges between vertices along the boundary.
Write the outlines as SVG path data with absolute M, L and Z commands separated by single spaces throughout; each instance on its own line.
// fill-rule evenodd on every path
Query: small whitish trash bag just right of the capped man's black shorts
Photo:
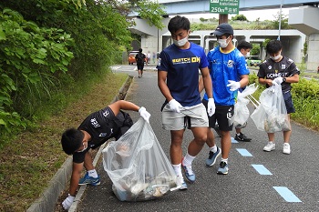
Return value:
M 243 128 L 247 125 L 247 120 L 249 118 L 250 112 L 247 107 L 250 100 L 247 99 L 247 96 L 252 95 L 256 90 L 258 86 L 255 86 L 255 84 L 252 84 L 250 86 L 247 86 L 242 93 L 238 91 L 237 96 L 237 102 L 234 106 L 234 117 L 233 117 L 233 125 L 236 128 Z

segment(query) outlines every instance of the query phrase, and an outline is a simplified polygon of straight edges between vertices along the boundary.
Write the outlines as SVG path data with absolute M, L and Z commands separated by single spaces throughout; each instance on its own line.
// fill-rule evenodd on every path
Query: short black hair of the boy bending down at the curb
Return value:
M 69 128 L 63 134 L 61 138 L 61 144 L 63 151 L 67 155 L 72 155 L 82 145 L 84 133 L 76 128 Z

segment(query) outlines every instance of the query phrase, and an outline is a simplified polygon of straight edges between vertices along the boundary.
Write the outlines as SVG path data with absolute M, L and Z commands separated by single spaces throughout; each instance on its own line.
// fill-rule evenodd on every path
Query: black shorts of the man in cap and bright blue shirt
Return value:
M 202 104 L 207 109 L 207 103 L 208 101 L 205 99 L 202 99 Z M 219 125 L 219 128 L 221 131 L 232 131 L 232 125 L 229 125 L 230 122 L 232 122 L 234 114 L 234 106 L 216 106 L 215 114 L 212 116 L 208 116 L 209 119 L 209 126 L 211 128 L 215 127 L 216 121 Z

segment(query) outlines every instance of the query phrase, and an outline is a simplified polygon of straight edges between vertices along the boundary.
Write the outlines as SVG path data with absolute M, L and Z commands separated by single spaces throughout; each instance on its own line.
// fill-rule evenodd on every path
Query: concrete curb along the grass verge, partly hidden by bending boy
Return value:
M 115 96 L 112 103 L 119 99 L 124 99 L 132 82 L 133 76 L 128 76 L 125 83 L 118 90 L 118 96 Z M 99 147 L 98 153 L 94 158 L 93 165 L 96 166 L 98 158 L 106 143 Z M 41 194 L 40 197 L 26 210 L 26 212 L 52 212 L 55 211 L 57 205 L 57 199 L 61 195 L 61 192 L 66 190 L 69 184 L 69 180 L 72 174 L 72 156 L 68 156 L 63 165 L 57 170 L 57 173 L 50 180 L 48 187 Z M 77 192 L 74 203 L 68 211 L 75 211 L 77 209 L 77 203 L 82 197 L 87 186 L 81 186 Z

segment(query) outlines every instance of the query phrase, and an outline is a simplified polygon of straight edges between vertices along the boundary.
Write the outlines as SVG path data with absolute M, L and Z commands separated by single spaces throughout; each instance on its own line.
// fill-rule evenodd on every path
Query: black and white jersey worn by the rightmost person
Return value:
M 292 59 L 283 56 L 283 59 L 279 62 L 274 62 L 271 58 L 267 59 L 262 63 L 259 68 L 258 77 L 266 79 L 274 79 L 279 76 L 289 77 L 294 75 L 299 75 L 300 71 L 297 66 L 295 66 Z M 268 85 L 266 85 L 269 87 Z M 290 83 L 283 82 L 282 84 L 283 93 L 288 92 L 292 89 Z

